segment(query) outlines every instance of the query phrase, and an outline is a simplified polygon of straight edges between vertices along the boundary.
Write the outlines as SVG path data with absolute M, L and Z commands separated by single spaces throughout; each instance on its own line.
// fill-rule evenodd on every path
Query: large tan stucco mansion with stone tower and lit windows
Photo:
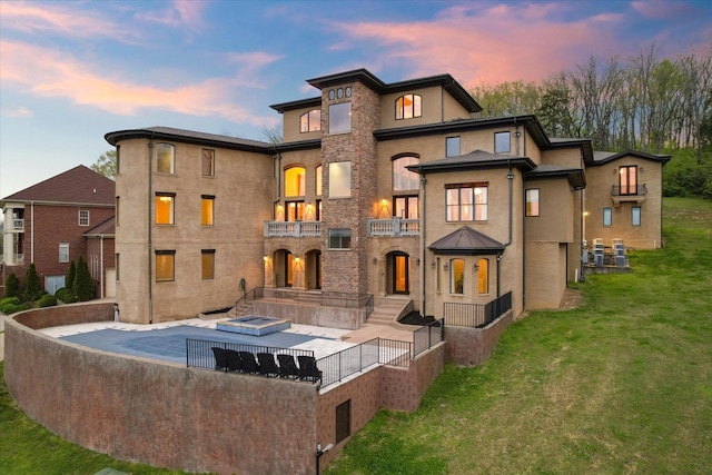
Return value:
M 241 279 L 436 318 L 511 296 L 520 316 L 558 306 L 582 271 L 584 226 L 586 239 L 661 243 L 665 157 L 601 158 L 589 139 L 548 138 L 531 115 L 477 119 L 449 75 L 384 83 L 358 69 L 308 83 L 318 97 L 273 106 L 283 144 L 164 127 L 106 135 L 120 151 L 122 320 L 229 307 Z M 630 206 L 617 181 L 630 167 L 649 191 L 626 211 L 635 229 L 593 227 L 606 207 Z M 344 328 L 369 313 L 309 311 Z

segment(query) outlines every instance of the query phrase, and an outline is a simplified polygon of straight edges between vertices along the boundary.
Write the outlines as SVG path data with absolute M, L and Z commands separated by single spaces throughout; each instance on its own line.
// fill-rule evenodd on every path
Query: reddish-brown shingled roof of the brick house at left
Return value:
M 113 180 L 79 165 L 7 196 L 2 201 L 115 206 L 115 190 Z

